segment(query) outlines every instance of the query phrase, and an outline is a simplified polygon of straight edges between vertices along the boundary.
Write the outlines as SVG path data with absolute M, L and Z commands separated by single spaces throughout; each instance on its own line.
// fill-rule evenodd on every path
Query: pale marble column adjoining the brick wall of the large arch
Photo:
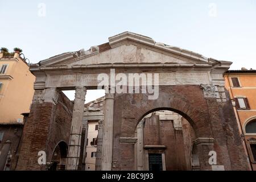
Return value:
M 112 169 L 112 149 L 113 149 L 113 118 L 114 118 L 114 94 L 106 93 L 104 109 L 104 129 L 102 140 L 102 160 L 101 170 Z

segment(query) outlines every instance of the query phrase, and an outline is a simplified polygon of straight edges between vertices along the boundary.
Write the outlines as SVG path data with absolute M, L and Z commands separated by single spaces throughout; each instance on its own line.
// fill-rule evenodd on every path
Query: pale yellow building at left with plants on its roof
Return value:
M 23 122 L 30 112 L 35 76 L 19 52 L 0 53 L 0 123 Z

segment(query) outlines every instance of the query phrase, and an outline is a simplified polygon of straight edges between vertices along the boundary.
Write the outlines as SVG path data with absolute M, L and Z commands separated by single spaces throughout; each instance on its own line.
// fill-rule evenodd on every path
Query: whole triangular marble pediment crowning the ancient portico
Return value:
M 66 52 L 40 61 L 40 65 L 90 65 L 106 63 L 204 63 L 218 64 L 192 51 L 157 43 L 147 36 L 123 32 L 109 38 L 109 42 L 93 46 L 88 51 L 81 49 Z

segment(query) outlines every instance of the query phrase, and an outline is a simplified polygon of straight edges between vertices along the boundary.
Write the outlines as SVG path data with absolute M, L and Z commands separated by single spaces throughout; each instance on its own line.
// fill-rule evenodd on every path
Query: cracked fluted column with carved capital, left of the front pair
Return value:
M 84 86 L 76 87 L 75 103 L 73 107 L 71 133 L 68 145 L 67 170 L 76 170 L 79 164 L 82 116 L 84 114 L 86 88 Z

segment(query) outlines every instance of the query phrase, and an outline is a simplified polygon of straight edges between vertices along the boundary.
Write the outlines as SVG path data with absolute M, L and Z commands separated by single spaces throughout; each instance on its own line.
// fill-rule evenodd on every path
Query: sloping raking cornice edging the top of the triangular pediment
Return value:
M 49 59 L 42 60 L 38 63 L 38 65 L 43 67 L 49 65 L 76 65 L 76 62 L 80 60 L 87 59 L 90 56 L 94 56 L 101 52 L 108 51 L 109 49 L 117 48 L 127 43 L 134 44 L 135 46 L 144 47 L 154 52 L 160 52 L 165 55 L 174 56 L 176 58 L 178 57 L 180 58 L 180 60 L 183 60 L 188 64 L 206 63 L 211 66 L 216 65 L 216 67 L 220 67 L 221 65 L 224 65 L 224 67 L 229 67 L 232 64 L 232 62 L 229 61 L 218 61 L 216 59 L 207 58 L 203 55 L 200 55 L 199 53 L 188 51 L 187 49 L 181 49 L 175 46 L 168 46 L 164 43 L 158 43 L 147 36 L 134 34 L 133 32 L 123 32 L 121 34 L 110 37 L 109 43 L 105 43 L 100 46 L 93 46 L 88 51 L 81 49 L 80 51 L 62 53 L 60 55 L 50 57 Z

